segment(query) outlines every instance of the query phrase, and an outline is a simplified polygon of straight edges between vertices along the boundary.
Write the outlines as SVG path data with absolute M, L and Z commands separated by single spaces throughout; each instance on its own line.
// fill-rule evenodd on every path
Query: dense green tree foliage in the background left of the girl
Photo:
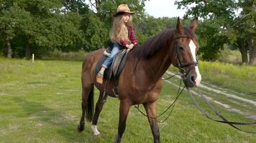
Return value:
M 0 1 L 1 50 L 12 47 L 13 57 L 61 51 L 93 51 L 106 45 L 111 18 L 119 4 L 128 4 L 144 16 L 144 1 L 95 1 L 96 11 L 85 0 Z M 92 3 L 91 3 L 92 4 Z M 24 41 L 24 42 L 22 42 Z

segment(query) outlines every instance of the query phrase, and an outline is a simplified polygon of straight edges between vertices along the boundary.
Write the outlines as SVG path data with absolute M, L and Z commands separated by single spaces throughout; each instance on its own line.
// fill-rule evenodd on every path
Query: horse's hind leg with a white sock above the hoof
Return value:
M 96 103 L 95 114 L 93 116 L 93 122 L 91 124 L 91 129 L 93 129 L 94 135 L 100 134 L 100 132 L 97 129 L 97 123 L 98 123 L 98 119 L 99 119 L 99 114 L 101 113 L 103 105 L 106 102 L 106 97 L 107 97 L 107 95 L 104 95 L 104 92 L 99 93 L 99 99 L 98 99 L 98 102 Z

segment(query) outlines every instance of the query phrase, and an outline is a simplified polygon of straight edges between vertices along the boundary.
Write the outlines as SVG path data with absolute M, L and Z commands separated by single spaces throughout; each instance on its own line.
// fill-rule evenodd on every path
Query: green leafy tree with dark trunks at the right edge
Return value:
M 242 8 L 241 13 L 232 22 L 231 26 L 227 28 L 227 35 L 229 37 L 229 44 L 237 47 L 242 54 L 242 62 L 247 63 L 247 51 L 249 51 L 249 64 L 254 63 L 256 57 L 255 49 L 255 2 L 253 1 L 239 1 L 237 3 Z

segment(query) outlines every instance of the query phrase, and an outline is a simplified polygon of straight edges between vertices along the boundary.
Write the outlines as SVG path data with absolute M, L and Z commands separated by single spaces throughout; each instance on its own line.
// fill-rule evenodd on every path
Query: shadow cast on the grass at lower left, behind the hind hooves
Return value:
M 85 131 L 79 133 L 76 129 L 78 120 L 68 119 L 68 115 L 65 114 L 65 111 L 61 110 L 61 107 L 59 107 L 58 110 L 51 109 L 49 107 L 46 107 L 44 104 L 41 104 L 40 102 L 28 101 L 27 99 L 23 99 L 21 97 L 14 98 L 14 101 L 17 102 L 20 107 L 22 107 L 24 117 L 35 121 L 40 121 L 42 122 L 42 124 L 44 124 L 44 129 L 42 129 L 42 132 L 45 132 L 45 137 L 61 137 L 60 142 L 62 142 L 63 139 L 66 142 L 102 141 L 101 136 L 93 136 L 91 129 L 89 129 L 90 126 L 88 125 L 88 123 L 86 124 Z

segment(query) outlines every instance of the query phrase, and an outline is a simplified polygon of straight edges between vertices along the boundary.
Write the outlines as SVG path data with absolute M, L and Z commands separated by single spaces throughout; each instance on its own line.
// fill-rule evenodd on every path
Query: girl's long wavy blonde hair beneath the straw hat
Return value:
M 123 40 L 129 40 L 128 39 L 128 29 L 127 26 L 130 24 L 130 21 L 132 20 L 132 15 L 130 15 L 129 21 L 127 21 L 127 24 L 124 23 L 123 20 L 123 14 L 119 14 L 118 16 L 114 17 L 114 21 L 109 33 L 109 37 L 112 42 L 119 43 Z

